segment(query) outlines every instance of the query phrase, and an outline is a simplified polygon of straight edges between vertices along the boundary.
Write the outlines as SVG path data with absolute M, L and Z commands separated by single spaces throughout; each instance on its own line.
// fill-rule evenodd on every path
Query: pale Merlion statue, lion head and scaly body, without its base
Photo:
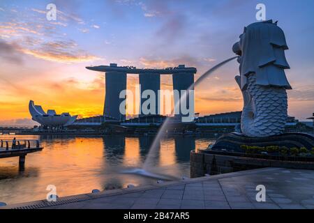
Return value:
M 272 20 L 244 27 L 232 47 L 239 55 L 240 76 L 235 79 L 244 98 L 241 131 L 248 137 L 274 136 L 285 129 L 286 90 L 292 89 L 285 76 L 290 68 L 285 49 L 285 34 Z

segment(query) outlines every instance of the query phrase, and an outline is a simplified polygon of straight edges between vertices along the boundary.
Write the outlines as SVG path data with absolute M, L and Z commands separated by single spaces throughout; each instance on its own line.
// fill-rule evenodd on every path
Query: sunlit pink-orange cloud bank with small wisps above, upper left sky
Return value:
M 31 10 L 36 13 L 46 13 L 45 10 L 36 8 Z M 61 21 L 84 22 L 75 15 L 63 13 L 59 10 L 57 13 Z M 8 45 L 15 44 L 15 50 L 38 59 L 61 63 L 77 63 L 100 59 L 98 56 L 80 49 L 73 40 L 66 39 L 64 36 L 61 40 L 59 40 L 60 38 L 57 38 L 58 40 L 54 38 L 58 33 L 56 27 L 52 25 L 67 26 L 68 24 L 59 21 L 46 22 L 41 17 L 35 22 L 29 21 L 28 18 L 24 19 L 27 22 L 15 20 L 0 22 L 0 38 L 5 39 Z

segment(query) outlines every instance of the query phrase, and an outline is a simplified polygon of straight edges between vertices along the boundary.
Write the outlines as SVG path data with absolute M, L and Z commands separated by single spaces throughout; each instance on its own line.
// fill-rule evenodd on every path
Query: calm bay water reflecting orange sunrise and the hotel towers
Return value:
M 0 136 L 11 139 L 14 136 Z M 44 149 L 27 155 L 25 171 L 18 171 L 18 157 L 0 159 L 0 201 L 20 203 L 45 199 L 47 185 L 56 185 L 59 197 L 145 185 L 156 180 L 119 174 L 121 169 L 142 167 L 154 137 L 17 136 L 40 139 Z M 206 148 L 212 140 L 200 137 L 167 137 L 160 140 L 154 154 L 155 172 L 170 176 L 190 176 L 190 150 Z

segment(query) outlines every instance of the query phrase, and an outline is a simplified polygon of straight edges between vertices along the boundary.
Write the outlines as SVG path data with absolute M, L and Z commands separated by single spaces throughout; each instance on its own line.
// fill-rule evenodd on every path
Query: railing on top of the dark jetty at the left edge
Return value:
M 0 151 L 1 150 L 20 150 L 25 148 L 40 148 L 39 140 L 32 139 L 1 139 L 0 140 Z

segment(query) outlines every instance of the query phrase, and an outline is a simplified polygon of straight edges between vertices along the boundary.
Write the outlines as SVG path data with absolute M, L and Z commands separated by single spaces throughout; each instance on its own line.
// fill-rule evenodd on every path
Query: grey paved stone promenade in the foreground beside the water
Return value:
M 257 185 L 266 187 L 265 202 L 255 199 Z M 255 169 L 4 208 L 314 208 L 314 171 Z

